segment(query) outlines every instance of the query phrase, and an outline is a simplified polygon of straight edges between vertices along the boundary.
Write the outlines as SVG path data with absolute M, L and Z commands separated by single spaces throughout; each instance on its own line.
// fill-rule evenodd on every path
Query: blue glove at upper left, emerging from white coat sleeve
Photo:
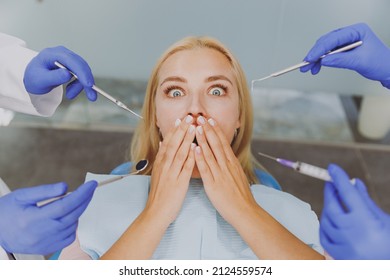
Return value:
M 92 89 L 95 81 L 87 62 L 65 47 L 59 46 L 42 50 L 34 57 L 24 72 L 24 86 L 29 93 L 45 94 L 53 88 L 69 82 L 73 76 L 66 69 L 58 68 L 54 62 L 58 61 L 71 70 L 78 79 L 66 87 L 66 97 L 75 98 L 83 89 L 91 101 L 97 99 Z

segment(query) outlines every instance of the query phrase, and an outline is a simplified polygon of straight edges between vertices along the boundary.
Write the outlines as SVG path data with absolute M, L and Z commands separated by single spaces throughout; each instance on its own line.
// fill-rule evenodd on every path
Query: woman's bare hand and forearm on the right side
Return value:
M 324 259 L 255 201 L 244 171 L 213 119 L 198 118 L 195 160 L 206 193 L 260 259 Z

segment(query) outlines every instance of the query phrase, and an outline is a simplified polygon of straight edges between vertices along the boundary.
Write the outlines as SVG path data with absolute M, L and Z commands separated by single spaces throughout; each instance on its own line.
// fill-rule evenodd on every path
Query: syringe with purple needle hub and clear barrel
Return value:
M 272 157 L 272 156 L 269 156 L 269 155 L 266 155 L 263 153 L 258 153 L 258 154 L 263 156 L 263 157 L 275 160 L 276 162 L 280 163 L 283 166 L 292 168 L 295 171 L 297 171 L 298 173 L 301 173 L 301 174 L 304 174 L 304 175 L 307 175 L 310 177 L 314 177 L 314 178 L 317 178 L 317 179 L 320 179 L 323 181 L 332 182 L 332 178 L 330 177 L 328 170 L 326 170 L 324 168 L 317 167 L 317 166 L 314 166 L 314 165 L 311 165 L 308 163 L 304 163 L 304 162 L 300 162 L 300 161 L 293 162 L 293 161 L 283 159 L 283 158 L 275 158 L 275 157 Z

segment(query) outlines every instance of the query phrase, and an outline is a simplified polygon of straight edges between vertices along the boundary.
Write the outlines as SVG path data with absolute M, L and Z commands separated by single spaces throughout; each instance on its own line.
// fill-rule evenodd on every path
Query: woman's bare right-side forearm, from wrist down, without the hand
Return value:
M 324 259 L 260 206 L 242 210 L 232 225 L 260 259 Z

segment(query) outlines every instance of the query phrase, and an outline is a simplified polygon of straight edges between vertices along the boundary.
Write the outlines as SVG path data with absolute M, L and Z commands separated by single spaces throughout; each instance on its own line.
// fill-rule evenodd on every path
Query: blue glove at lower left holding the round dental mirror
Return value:
M 65 194 L 67 185 L 62 182 L 18 189 L 1 197 L 1 247 L 10 253 L 48 255 L 68 246 L 75 240 L 78 219 L 96 186 L 96 181 L 89 181 L 41 207 L 37 202 Z

